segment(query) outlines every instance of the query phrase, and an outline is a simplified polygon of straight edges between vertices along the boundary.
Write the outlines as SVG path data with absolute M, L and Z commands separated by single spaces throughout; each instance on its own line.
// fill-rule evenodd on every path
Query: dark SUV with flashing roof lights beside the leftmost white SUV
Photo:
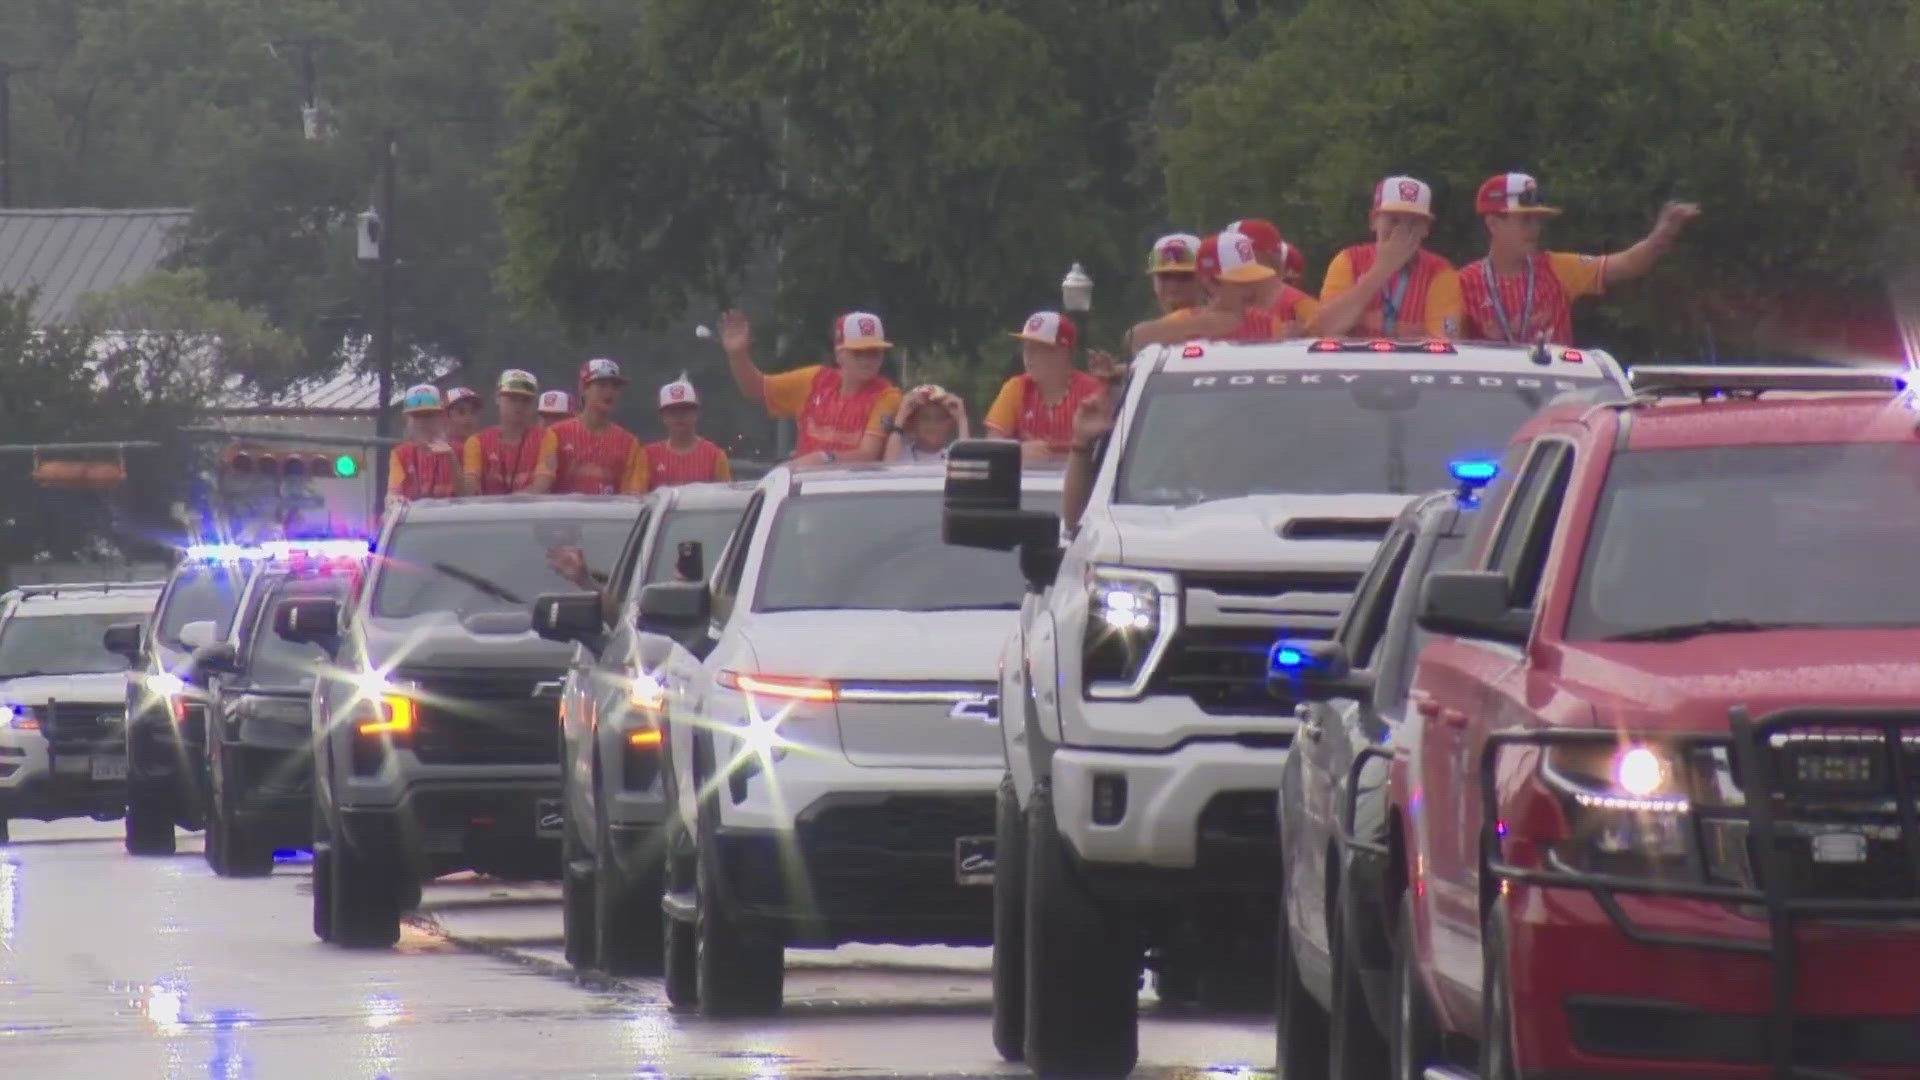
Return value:
M 102 644 L 127 657 L 127 851 L 173 855 L 175 828 L 200 828 L 207 696 L 186 680 L 196 648 L 227 636 L 257 548 L 194 544 L 167 577 L 152 619 L 108 626 Z M 188 630 L 192 628 L 192 630 Z

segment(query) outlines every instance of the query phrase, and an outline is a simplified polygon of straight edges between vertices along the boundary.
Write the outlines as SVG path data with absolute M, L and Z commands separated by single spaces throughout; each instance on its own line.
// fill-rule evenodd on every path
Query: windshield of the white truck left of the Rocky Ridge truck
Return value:
M 791 498 L 766 544 L 755 611 L 1012 611 L 1027 590 L 1014 552 L 941 542 L 939 492 Z

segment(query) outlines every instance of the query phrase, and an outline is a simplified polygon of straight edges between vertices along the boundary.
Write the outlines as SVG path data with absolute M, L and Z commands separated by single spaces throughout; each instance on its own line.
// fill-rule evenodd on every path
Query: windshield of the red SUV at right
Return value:
M 1569 640 L 1920 626 L 1920 446 L 1624 452 L 1588 536 Z

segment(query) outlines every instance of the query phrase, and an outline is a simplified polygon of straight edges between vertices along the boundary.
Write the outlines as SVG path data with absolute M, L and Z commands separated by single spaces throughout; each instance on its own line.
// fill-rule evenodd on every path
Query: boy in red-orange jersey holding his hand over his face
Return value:
M 1321 309 L 1308 331 L 1323 338 L 1455 338 L 1459 275 L 1428 252 L 1434 192 L 1427 181 L 1386 177 L 1373 188 L 1371 244 L 1327 263 Z

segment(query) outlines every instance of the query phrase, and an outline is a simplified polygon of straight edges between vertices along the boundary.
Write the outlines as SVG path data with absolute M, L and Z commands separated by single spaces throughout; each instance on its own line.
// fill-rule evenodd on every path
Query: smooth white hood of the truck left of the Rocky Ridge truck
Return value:
M 998 678 L 1020 611 L 774 611 L 747 626 L 755 663 L 806 678 Z

